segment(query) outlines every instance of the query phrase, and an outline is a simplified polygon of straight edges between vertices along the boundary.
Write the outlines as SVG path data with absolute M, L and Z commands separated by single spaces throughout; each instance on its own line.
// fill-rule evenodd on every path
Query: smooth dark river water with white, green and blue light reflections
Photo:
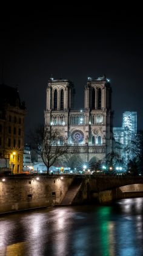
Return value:
M 2 256 L 142 256 L 143 198 L 0 216 Z

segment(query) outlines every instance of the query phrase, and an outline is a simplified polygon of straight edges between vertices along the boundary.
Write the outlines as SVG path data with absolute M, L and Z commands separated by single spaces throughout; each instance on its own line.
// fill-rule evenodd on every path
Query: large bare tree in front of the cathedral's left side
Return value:
M 49 168 L 58 161 L 62 155 L 67 154 L 69 146 L 67 138 L 62 132 L 52 126 L 39 125 L 30 132 L 30 141 L 32 148 L 41 156 L 45 166 L 47 166 L 47 174 Z

